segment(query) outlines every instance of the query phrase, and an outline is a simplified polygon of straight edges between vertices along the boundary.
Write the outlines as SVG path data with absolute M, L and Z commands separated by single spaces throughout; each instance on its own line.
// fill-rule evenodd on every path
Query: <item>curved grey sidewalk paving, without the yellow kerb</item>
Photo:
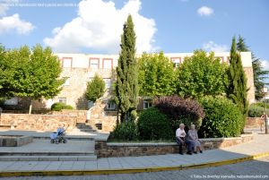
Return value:
M 209 163 L 227 159 L 238 159 L 269 151 L 269 134 L 255 134 L 254 141 L 224 148 L 205 150 L 203 154 L 179 155 L 167 154 L 159 156 L 122 157 L 96 159 L 93 161 L 24 161 L 1 162 L 0 171 L 48 171 L 48 170 L 101 170 L 143 167 L 172 167 Z

